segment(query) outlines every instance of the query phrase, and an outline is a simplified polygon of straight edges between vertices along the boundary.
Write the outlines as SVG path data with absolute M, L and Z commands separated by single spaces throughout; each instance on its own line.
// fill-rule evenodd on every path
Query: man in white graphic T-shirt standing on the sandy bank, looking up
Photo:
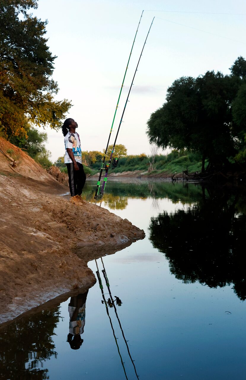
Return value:
M 74 119 L 69 118 L 64 121 L 62 126 L 66 149 L 64 163 L 67 166 L 71 202 L 81 205 L 85 203 L 81 198 L 81 193 L 85 185 L 86 175 L 82 165 L 80 136 L 75 132 L 76 128 L 78 128 L 78 124 Z

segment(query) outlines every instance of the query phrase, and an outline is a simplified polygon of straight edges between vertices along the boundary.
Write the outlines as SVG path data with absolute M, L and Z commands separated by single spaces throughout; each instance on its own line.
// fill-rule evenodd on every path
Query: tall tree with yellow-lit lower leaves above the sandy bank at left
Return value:
M 37 8 L 35 0 L 0 3 L 0 127 L 6 137 L 27 137 L 26 119 L 56 129 L 71 107 L 66 99 L 53 99 L 56 57 L 47 46 L 47 21 L 29 14 L 30 8 Z

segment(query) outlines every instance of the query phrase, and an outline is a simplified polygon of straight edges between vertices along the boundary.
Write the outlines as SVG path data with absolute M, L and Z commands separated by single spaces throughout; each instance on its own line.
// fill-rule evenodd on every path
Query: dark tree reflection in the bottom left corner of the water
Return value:
M 52 340 L 59 321 L 58 307 L 21 318 L 0 329 L 0 377 L 4 379 L 48 379 L 42 369 L 52 355 L 57 356 Z M 40 368 L 41 367 L 41 368 Z

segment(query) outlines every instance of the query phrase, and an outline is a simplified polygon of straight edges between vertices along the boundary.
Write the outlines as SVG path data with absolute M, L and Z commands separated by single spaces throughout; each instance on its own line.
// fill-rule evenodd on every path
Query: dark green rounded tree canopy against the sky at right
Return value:
M 207 71 L 182 77 L 167 90 L 166 103 L 147 122 L 150 142 L 165 149 L 201 153 L 210 165 L 226 163 L 245 144 L 246 61 L 238 57 L 230 75 Z

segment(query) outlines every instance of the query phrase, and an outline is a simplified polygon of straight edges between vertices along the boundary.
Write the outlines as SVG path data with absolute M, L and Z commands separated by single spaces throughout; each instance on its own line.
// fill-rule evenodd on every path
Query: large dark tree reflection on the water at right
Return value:
M 199 281 L 209 287 L 234 283 L 234 291 L 246 299 L 246 215 L 237 195 L 205 192 L 200 202 L 175 214 L 151 218 L 150 239 L 165 253 L 170 270 L 184 282 Z

